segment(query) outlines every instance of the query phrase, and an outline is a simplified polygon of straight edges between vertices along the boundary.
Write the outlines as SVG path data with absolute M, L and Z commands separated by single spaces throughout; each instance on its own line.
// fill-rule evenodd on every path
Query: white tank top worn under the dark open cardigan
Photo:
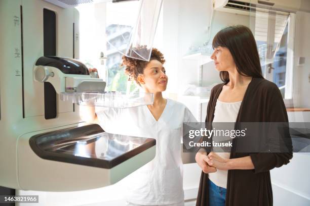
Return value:
M 213 122 L 236 122 L 239 109 L 242 101 L 236 102 L 223 102 L 217 99 Z M 232 128 L 221 129 L 234 129 L 234 124 L 231 124 Z M 230 127 L 230 125 L 229 125 Z M 218 129 L 218 128 L 216 128 Z M 216 154 L 224 159 L 229 159 L 230 152 L 216 152 Z M 226 188 L 227 185 L 227 170 L 218 170 L 215 173 L 209 173 L 209 179 L 217 186 Z

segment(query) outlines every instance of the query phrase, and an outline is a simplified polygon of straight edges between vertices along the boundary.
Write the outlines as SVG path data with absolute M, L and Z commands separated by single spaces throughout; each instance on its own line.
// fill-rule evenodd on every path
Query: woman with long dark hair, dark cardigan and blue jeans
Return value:
M 215 68 L 223 83 L 210 96 L 206 122 L 288 122 L 276 84 L 263 78 L 250 29 L 237 25 L 213 39 Z M 273 205 L 269 171 L 289 163 L 291 142 L 283 153 L 198 152 L 202 168 L 197 206 Z

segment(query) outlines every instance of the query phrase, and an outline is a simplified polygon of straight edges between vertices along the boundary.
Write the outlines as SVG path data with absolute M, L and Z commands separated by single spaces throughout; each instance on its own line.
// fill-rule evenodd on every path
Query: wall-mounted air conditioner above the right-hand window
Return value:
M 213 8 L 217 11 L 249 16 L 256 10 L 278 10 L 287 12 L 310 12 L 309 0 L 213 0 Z

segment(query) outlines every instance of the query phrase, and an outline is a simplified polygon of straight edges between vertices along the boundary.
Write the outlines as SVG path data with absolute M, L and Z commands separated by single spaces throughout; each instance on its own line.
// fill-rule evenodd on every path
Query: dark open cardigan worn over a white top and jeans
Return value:
M 216 100 L 224 84 L 216 85 L 211 91 L 206 122 L 213 121 Z M 283 97 L 277 85 L 262 78 L 252 78 L 236 122 L 288 122 Z M 273 205 L 269 170 L 288 164 L 293 153 L 236 153 L 233 148 L 234 146 L 231 148 L 230 159 L 250 156 L 255 169 L 228 170 L 225 205 Z M 208 174 L 202 172 L 196 206 L 209 205 L 207 180 Z

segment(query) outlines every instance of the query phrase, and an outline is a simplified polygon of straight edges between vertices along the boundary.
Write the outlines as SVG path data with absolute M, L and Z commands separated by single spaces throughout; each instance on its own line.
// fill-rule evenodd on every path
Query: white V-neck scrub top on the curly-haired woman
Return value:
M 156 139 L 155 158 L 130 174 L 126 200 L 136 204 L 173 204 L 184 200 L 181 137 L 183 122 L 197 122 L 180 102 L 167 99 L 158 121 L 147 106 L 96 108 L 100 126 L 109 133 Z

